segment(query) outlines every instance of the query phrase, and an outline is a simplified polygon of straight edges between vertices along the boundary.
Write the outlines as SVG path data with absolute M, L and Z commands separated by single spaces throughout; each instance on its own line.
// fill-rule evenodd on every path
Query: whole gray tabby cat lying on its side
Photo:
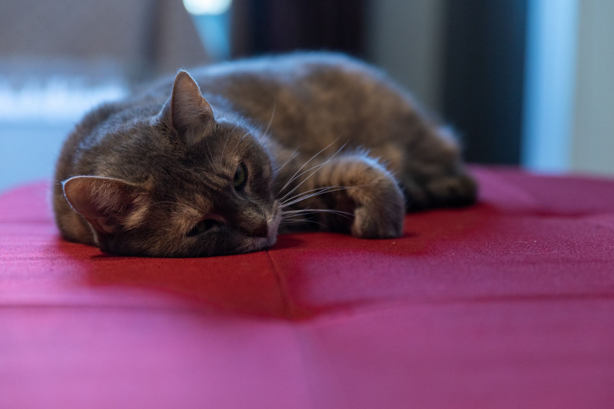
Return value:
M 451 134 L 382 72 L 300 53 L 179 71 L 88 113 L 53 207 L 64 239 L 194 257 L 262 250 L 289 229 L 398 237 L 406 209 L 475 195 Z

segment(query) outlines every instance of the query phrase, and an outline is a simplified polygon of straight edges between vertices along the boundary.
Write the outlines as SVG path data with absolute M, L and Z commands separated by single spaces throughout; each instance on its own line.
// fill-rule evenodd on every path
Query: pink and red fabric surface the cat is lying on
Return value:
M 0 408 L 612 408 L 614 180 L 473 167 L 403 237 L 119 258 L 0 196 Z

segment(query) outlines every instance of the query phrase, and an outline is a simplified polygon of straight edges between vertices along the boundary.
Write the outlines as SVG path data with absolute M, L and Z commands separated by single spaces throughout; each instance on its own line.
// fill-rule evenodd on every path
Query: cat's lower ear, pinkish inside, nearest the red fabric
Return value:
M 75 176 L 64 183 L 64 197 L 72 208 L 103 234 L 115 234 L 120 226 L 138 223 L 146 207 L 146 193 L 120 179 Z

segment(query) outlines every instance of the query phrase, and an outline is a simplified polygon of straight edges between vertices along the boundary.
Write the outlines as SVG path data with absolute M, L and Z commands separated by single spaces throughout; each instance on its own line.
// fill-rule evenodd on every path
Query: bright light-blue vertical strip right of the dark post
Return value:
M 529 1 L 523 165 L 531 170 L 570 169 L 579 1 Z

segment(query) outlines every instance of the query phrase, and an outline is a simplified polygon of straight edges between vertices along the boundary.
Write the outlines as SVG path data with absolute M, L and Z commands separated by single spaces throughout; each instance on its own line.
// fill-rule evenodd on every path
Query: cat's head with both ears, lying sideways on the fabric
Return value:
M 281 208 L 262 129 L 216 114 L 187 72 L 177 74 L 160 112 L 133 123 L 107 121 L 103 133 L 106 163 L 98 176 L 63 185 L 101 250 L 196 257 L 275 242 Z

